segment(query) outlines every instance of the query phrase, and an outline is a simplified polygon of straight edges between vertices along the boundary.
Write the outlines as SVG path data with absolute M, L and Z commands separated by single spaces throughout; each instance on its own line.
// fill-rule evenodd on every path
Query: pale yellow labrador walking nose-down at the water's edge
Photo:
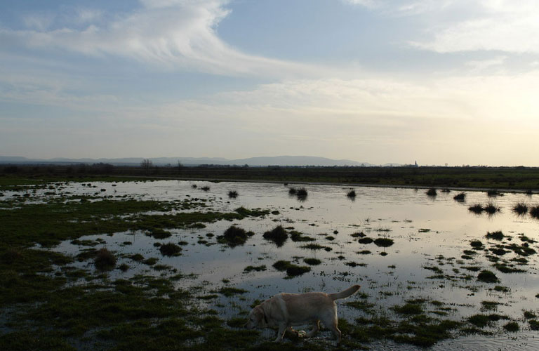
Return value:
M 347 298 L 359 290 L 359 285 L 340 293 L 278 293 L 269 300 L 255 306 L 249 313 L 248 329 L 256 327 L 279 326 L 276 342 L 282 341 L 286 329 L 291 326 L 314 323 L 314 328 L 307 333 L 307 338 L 319 331 L 319 322 L 333 331 L 340 343 L 340 330 L 337 327 L 337 306 L 335 300 Z

